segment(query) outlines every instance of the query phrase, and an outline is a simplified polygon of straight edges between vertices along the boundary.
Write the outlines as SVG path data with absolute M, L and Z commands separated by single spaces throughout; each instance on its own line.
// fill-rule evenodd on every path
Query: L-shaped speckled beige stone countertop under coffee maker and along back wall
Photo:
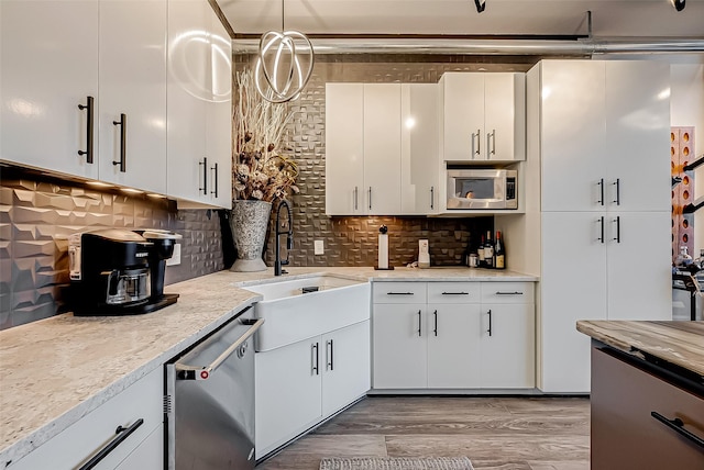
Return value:
M 248 284 L 332 273 L 378 281 L 537 281 L 469 268 L 220 271 L 165 289 L 178 302 L 145 315 L 57 315 L 0 332 L 0 468 L 16 461 L 261 300 Z

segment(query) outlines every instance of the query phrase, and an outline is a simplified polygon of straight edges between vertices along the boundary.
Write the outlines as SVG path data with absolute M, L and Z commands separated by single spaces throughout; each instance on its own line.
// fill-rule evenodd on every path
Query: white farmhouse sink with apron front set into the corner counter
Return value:
M 286 346 L 370 318 L 371 288 L 366 281 L 315 276 L 284 278 L 242 288 L 264 296 L 254 304 L 254 316 L 265 320 L 255 334 L 257 351 Z

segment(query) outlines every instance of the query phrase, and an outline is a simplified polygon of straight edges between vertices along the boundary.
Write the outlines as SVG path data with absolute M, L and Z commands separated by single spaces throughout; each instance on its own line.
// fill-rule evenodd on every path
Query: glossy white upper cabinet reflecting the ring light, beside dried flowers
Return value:
M 168 2 L 166 188 L 182 205 L 232 205 L 231 49 L 217 21 L 206 1 Z

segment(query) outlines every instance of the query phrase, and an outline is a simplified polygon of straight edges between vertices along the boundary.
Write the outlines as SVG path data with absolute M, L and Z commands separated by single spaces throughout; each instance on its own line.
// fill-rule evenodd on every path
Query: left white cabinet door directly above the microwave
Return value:
M 472 161 L 486 159 L 484 128 L 484 75 L 446 72 L 442 92 L 443 159 Z

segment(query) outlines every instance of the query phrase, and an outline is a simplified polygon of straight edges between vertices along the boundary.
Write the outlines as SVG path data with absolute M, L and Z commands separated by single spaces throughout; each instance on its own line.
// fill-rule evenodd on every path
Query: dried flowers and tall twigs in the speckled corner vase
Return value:
M 282 134 L 293 118 L 287 104 L 264 100 L 251 70 L 237 74 L 239 102 L 234 112 L 234 195 L 272 202 L 298 193 L 298 166 L 283 155 Z

